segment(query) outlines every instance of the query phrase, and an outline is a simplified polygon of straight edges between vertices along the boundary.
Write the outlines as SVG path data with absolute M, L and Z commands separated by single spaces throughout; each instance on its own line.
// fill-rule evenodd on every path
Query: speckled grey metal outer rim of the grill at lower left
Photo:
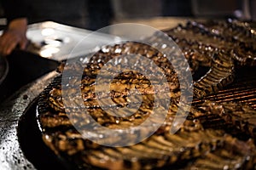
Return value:
M 17 127 L 20 116 L 28 105 L 38 97 L 44 87 L 57 75 L 52 71 L 26 85 L 0 105 L 0 169 L 35 169 L 20 148 Z

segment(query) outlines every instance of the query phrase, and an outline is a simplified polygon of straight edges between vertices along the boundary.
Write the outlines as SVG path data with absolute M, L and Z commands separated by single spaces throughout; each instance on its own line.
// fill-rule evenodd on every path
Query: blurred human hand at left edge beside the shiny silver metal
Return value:
M 8 55 L 16 47 L 20 49 L 26 48 L 26 26 L 27 21 L 25 18 L 16 19 L 9 23 L 9 27 L 6 31 L 3 31 L 3 35 L 0 37 L 0 54 Z

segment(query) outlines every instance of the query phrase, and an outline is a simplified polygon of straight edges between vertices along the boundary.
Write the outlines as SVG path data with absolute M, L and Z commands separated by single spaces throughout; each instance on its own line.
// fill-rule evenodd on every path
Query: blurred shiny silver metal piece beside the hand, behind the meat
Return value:
M 88 54 L 101 47 L 102 44 L 119 38 L 100 32 L 94 32 L 93 36 L 88 38 L 87 36 L 92 32 L 52 21 L 32 24 L 28 26 L 26 34 L 31 41 L 27 50 L 42 57 L 60 61 L 67 57 L 73 58 Z M 84 37 L 87 37 L 86 42 L 82 41 Z M 82 43 L 79 45 L 81 48 L 76 48 L 76 52 L 73 52 L 73 48 L 78 43 Z

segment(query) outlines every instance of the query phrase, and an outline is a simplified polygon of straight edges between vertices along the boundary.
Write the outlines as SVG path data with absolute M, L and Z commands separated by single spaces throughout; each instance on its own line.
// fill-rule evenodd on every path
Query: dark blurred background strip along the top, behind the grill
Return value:
M 30 23 L 53 20 L 69 26 L 96 30 L 116 20 L 152 17 L 255 18 L 254 0 L 22 0 Z M 4 9 L 0 6 L 0 25 Z

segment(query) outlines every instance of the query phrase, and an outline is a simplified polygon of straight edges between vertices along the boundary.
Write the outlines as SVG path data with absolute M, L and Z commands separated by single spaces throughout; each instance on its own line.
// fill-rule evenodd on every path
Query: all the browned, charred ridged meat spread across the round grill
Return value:
M 188 22 L 186 26 L 177 26 L 166 31 L 188 59 L 190 66 L 188 70 L 196 74 L 200 66 L 209 67 L 205 76 L 195 80 L 193 84 L 194 97 L 201 99 L 201 103 L 192 104 L 183 125 L 174 134 L 170 133 L 172 122 L 177 117 L 183 117 L 189 106 L 183 105 L 182 108 L 178 108 L 181 92 L 177 72 L 174 71 L 165 54 L 155 49 L 162 48 L 162 44 L 165 44 L 161 42 L 157 33 L 147 37 L 148 42 L 158 42 L 153 43 L 152 47 L 141 42 L 125 42 L 102 47 L 89 60 L 86 60 L 88 59 L 86 56 L 80 59 L 79 63 L 67 63 L 66 71 L 72 71 L 73 74 L 83 71 L 81 80 L 74 79 L 68 84 L 70 89 L 79 87 L 80 94 L 78 96 L 75 90 L 68 90 L 67 98 L 73 99 L 74 104 L 64 105 L 62 97 L 64 89 L 61 87 L 61 81 L 69 77 L 62 77 L 63 67 L 60 67 L 61 75 L 55 77 L 38 99 L 38 122 L 44 143 L 57 156 L 72 162 L 75 167 L 84 169 L 255 168 L 256 111 L 245 104 L 204 100 L 208 94 L 216 94 L 219 89 L 233 82 L 236 65 L 254 65 L 255 58 L 250 56 L 255 54 L 254 46 L 251 44 L 255 38 L 253 31 L 247 29 L 249 26 L 229 20 Z M 165 50 L 168 54 L 172 54 L 172 48 L 163 48 L 163 51 Z M 159 66 L 164 74 L 148 80 L 148 77 L 143 75 L 144 67 L 139 66 L 137 69 L 141 72 L 124 71 L 115 75 L 116 65 L 108 65 L 108 72 L 101 74 L 102 77 L 115 75 L 109 86 L 110 92 L 107 94 L 100 92 L 96 98 L 96 78 L 102 66 L 111 59 L 117 64 L 128 62 L 118 58 L 121 54 L 143 55 L 153 61 L 144 65 L 148 68 L 149 75 L 159 74 L 154 69 L 154 65 Z M 84 60 L 88 61 L 86 65 L 82 62 Z M 131 62 L 135 61 L 131 59 Z M 140 59 L 136 62 L 143 64 L 143 60 Z M 183 66 L 179 58 L 173 62 Z M 163 77 L 166 78 L 167 84 L 162 83 Z M 106 86 L 107 82 L 101 83 L 100 86 Z M 186 85 L 191 84 L 187 82 Z M 82 103 L 87 109 L 86 114 L 90 114 L 101 126 L 120 130 L 127 127 L 138 129 L 137 126 L 154 114 L 154 94 L 158 93 L 163 94 L 160 97 L 161 101 L 171 99 L 166 119 L 153 135 L 137 144 L 124 147 L 96 144 L 84 139 L 74 126 L 75 124 L 85 127 L 89 122 L 85 113 L 77 110 L 79 106 L 77 100 L 82 98 Z M 131 96 L 137 94 L 142 95 L 143 101 L 131 116 L 124 117 L 121 111 L 117 111 L 120 117 L 111 116 L 102 109 L 102 106 L 113 108 L 137 105 L 137 101 L 130 100 Z M 107 98 L 112 99 L 111 105 L 108 102 L 100 105 L 97 101 Z M 181 109 L 183 114 L 177 115 L 178 109 Z M 68 113 L 73 113 L 72 118 L 75 122 L 70 121 Z M 154 126 L 159 120 L 155 119 L 150 123 L 150 126 Z M 149 128 L 139 128 L 129 139 L 130 142 L 132 143 Z M 99 136 L 96 138 L 101 140 Z M 120 144 L 124 142 L 119 136 L 107 140 Z

